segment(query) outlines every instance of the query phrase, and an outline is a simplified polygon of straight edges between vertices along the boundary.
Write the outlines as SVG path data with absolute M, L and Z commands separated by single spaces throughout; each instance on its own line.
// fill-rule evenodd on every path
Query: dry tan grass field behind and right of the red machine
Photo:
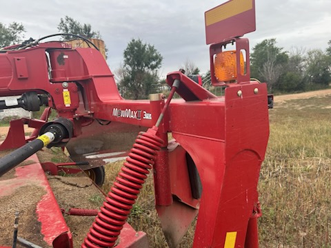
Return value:
M 275 97 L 258 189 L 260 247 L 331 247 L 330 93 Z M 104 189 L 121 165 L 106 167 Z M 150 247 L 167 247 L 154 210 L 152 176 L 129 222 L 148 234 Z M 194 227 L 180 247 L 192 247 L 193 236 Z

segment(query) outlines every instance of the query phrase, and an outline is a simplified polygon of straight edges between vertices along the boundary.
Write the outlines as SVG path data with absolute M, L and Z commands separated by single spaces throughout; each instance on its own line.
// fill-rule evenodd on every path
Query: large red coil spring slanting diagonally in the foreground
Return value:
M 121 168 L 81 247 L 113 247 L 115 244 L 132 205 L 154 165 L 157 151 L 161 149 L 163 141 L 155 133 L 155 130 L 149 129 L 137 136 L 126 163 Z

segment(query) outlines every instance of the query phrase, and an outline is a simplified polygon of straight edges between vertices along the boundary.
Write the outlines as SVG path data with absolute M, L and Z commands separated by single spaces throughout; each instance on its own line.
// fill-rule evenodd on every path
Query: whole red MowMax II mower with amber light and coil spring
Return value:
M 48 108 L 39 120 L 12 121 L 0 147 L 14 149 L 0 158 L 0 198 L 25 183 L 43 187 L 35 215 L 40 238 L 49 247 L 72 247 L 72 233 L 44 173 L 56 174 L 58 168 L 39 163 L 35 153 L 43 147 L 74 149 L 97 122 L 109 123 L 103 129 L 117 137 L 114 143 L 121 143 L 122 126 L 146 132 L 134 139 L 81 247 L 148 247 L 146 234 L 126 220 L 150 171 L 170 247 L 179 244 L 196 218 L 193 247 L 259 247 L 257 183 L 268 143 L 270 99 L 265 83 L 250 80 L 248 39 L 242 38 L 255 30 L 254 0 L 232 0 L 208 10 L 205 27 L 212 85 L 223 87 L 224 96 L 178 71 L 167 75 L 167 99 L 152 94 L 149 100 L 130 101 L 121 97 L 94 48 L 39 39 L 0 50 L 0 96 L 17 96 L 0 101 L 1 108 L 36 111 L 46 105 L 57 112 L 54 121 L 47 121 Z M 234 50 L 225 50 L 229 44 Z M 181 99 L 172 99 L 175 92 Z M 27 138 L 24 124 L 37 131 Z M 26 159 L 32 163 L 17 167 Z M 7 172 L 14 174 L 6 178 Z

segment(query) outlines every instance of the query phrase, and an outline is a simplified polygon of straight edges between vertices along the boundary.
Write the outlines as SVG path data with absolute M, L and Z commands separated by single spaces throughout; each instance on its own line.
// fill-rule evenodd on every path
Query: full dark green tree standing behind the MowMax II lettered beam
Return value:
M 163 57 L 154 45 L 143 43 L 141 39 L 132 39 L 123 52 L 123 79 L 119 89 L 128 99 L 146 99 L 152 85 L 159 82 L 158 69 Z

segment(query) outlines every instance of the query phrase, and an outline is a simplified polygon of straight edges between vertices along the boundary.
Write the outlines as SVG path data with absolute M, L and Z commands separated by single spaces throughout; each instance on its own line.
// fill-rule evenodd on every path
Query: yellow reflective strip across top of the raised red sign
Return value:
M 212 25 L 241 14 L 247 10 L 252 10 L 253 0 L 232 0 L 219 7 L 213 8 L 205 12 L 205 25 Z

